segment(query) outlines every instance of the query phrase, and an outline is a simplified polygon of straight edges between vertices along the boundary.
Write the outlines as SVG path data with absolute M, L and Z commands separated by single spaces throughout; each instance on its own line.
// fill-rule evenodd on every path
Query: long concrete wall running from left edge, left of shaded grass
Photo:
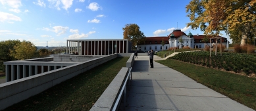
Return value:
M 0 110 L 3 110 L 17 102 L 24 99 L 28 99 L 42 91 L 70 79 L 78 74 L 86 72 L 91 68 L 103 64 L 113 58 L 116 58 L 117 54 L 103 56 L 81 62 L 57 70 L 52 70 L 35 76 L 27 78 L 17 79 L 7 83 L 0 84 Z

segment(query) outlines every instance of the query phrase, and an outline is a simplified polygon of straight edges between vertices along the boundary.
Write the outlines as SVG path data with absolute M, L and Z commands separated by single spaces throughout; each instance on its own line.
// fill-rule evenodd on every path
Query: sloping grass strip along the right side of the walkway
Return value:
M 256 79 L 222 72 L 203 66 L 195 66 L 178 60 L 156 61 L 194 79 L 230 99 L 256 110 Z

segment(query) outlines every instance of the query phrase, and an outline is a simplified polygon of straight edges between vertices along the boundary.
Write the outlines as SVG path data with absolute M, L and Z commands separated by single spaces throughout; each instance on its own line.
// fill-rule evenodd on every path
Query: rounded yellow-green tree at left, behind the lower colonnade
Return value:
M 33 58 L 36 53 L 36 46 L 30 41 L 22 41 L 10 50 L 10 55 L 18 60 Z

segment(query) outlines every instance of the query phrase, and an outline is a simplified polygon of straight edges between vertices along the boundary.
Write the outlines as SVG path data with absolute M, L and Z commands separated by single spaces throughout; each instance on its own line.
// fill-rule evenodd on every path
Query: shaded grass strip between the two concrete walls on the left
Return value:
M 115 58 L 7 110 L 90 110 L 129 57 Z

